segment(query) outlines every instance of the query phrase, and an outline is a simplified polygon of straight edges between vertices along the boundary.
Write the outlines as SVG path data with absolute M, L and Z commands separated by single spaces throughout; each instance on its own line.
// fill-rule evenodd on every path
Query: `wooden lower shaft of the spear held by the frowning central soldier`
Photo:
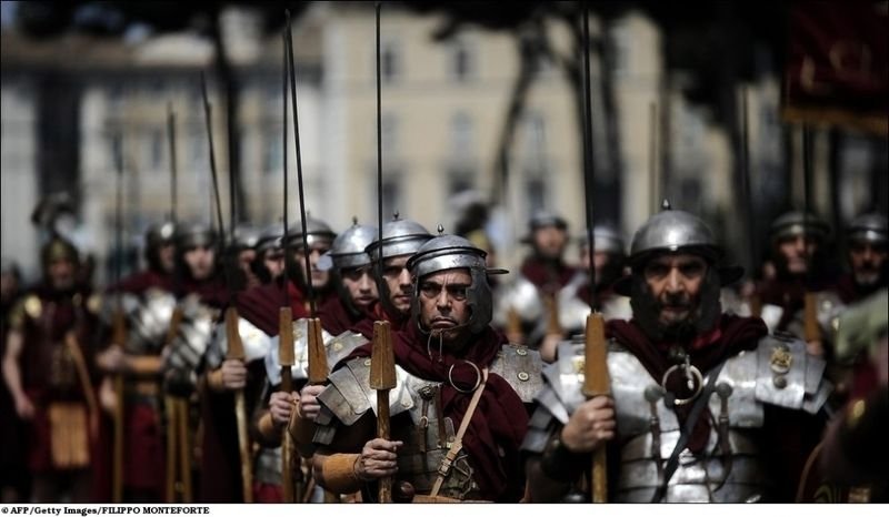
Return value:
M 389 322 L 373 322 L 370 387 L 377 391 L 377 437 L 389 439 L 389 391 L 396 387 L 396 363 Z M 380 503 L 392 501 L 392 478 L 379 479 Z

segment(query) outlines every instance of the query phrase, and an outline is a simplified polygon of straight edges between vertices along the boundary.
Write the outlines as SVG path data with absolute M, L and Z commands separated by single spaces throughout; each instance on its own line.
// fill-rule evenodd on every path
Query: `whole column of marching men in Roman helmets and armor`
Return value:
M 788 212 L 745 282 L 668 204 L 577 266 L 535 214 L 512 274 L 398 214 L 304 227 L 157 224 L 101 292 L 59 235 L 36 287 L 4 261 L 3 500 L 578 501 L 598 450 L 607 500 L 885 500 L 883 215 L 836 232 L 839 274 Z M 591 305 L 610 389 L 585 396 Z

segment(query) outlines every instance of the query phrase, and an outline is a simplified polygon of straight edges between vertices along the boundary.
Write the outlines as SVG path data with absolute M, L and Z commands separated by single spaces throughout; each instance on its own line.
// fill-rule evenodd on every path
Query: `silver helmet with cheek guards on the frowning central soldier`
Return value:
M 493 302 L 488 284 L 488 254 L 458 235 L 439 235 L 427 241 L 413 256 L 408 260 L 408 268 L 413 278 L 412 313 L 419 321 L 420 304 L 418 302 L 420 282 L 423 277 L 439 271 L 468 268 L 472 285 L 467 290 L 467 303 L 471 311 L 469 330 L 477 334 L 491 322 Z

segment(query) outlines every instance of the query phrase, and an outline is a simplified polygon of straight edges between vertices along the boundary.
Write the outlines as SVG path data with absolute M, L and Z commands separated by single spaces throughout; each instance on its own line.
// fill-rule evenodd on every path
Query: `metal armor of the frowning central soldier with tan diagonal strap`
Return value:
M 490 373 L 503 377 L 522 402 L 530 404 L 542 386 L 542 365 L 539 353 L 523 346 L 503 345 L 490 366 Z M 369 373 L 370 358 L 360 357 L 330 374 L 330 384 L 318 397 L 322 409 L 316 419 L 316 443 L 331 443 L 337 433 L 337 420 L 349 426 L 369 409 L 376 412 L 377 392 L 368 384 Z M 417 494 L 429 494 L 453 440 L 456 423 L 441 414 L 441 383 L 416 377 L 400 366 L 396 366 L 396 376 L 398 385 L 389 394 L 390 416 L 409 423 L 392 425 L 391 439 L 404 443 L 398 453 L 397 479 L 411 483 Z M 461 452 L 442 484 L 440 495 L 472 499 L 477 489 L 472 467 L 466 452 Z

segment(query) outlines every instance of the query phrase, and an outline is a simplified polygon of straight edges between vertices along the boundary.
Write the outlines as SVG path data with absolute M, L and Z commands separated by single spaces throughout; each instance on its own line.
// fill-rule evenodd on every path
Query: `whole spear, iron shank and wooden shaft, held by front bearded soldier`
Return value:
M 587 239 L 589 240 L 590 282 L 596 278 L 593 252 L 596 236 L 593 234 L 592 187 L 595 185 L 593 145 L 592 145 L 592 108 L 590 95 L 590 33 L 589 8 L 583 2 L 582 44 L 583 44 L 583 180 L 587 193 Z M 592 398 L 607 395 L 609 392 L 607 348 L 605 343 L 605 320 L 602 314 L 596 312 L 596 290 L 590 288 L 590 310 L 587 316 L 586 347 L 585 347 L 585 376 L 583 395 Z M 608 501 L 608 484 L 605 447 L 599 447 L 592 454 L 590 473 L 591 495 L 593 503 Z

